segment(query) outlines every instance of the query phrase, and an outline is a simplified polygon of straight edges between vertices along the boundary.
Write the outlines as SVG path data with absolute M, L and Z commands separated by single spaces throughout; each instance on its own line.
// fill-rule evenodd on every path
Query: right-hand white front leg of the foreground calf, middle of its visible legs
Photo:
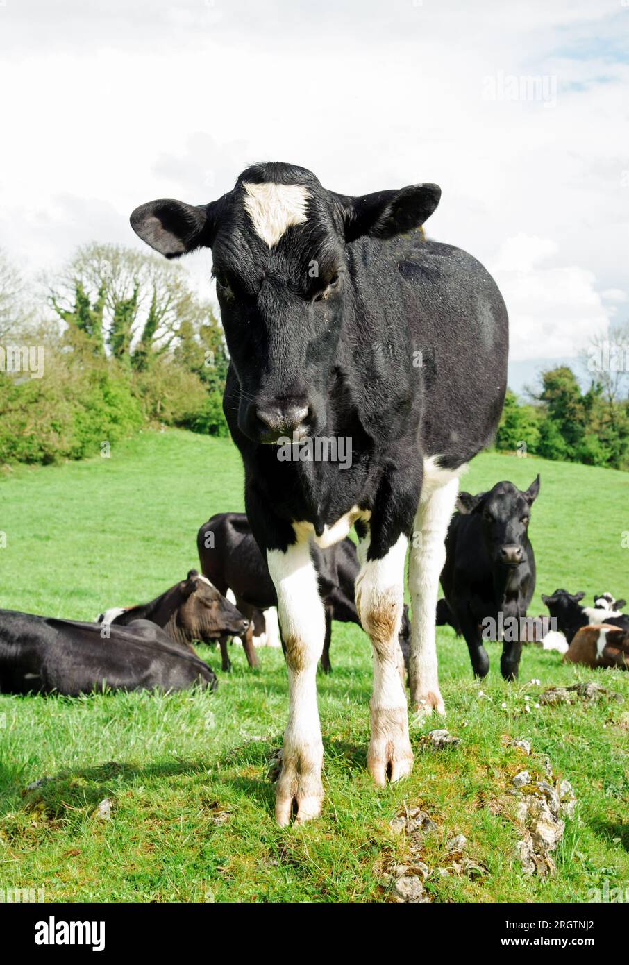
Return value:
M 397 781 L 413 769 L 403 657 L 397 642 L 402 616 L 407 539 L 397 540 L 381 560 L 366 561 L 356 578 L 356 608 L 373 648 L 373 693 L 369 701 L 370 740 L 367 763 L 378 786 Z

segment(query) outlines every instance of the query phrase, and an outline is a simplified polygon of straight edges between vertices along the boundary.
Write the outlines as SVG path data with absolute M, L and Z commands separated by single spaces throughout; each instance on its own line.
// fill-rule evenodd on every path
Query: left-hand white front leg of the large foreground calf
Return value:
M 286 553 L 268 550 L 266 557 L 287 651 L 288 723 L 275 800 L 276 819 L 285 825 L 293 803 L 300 823 L 321 812 L 323 743 L 316 705 L 316 665 L 323 649 L 325 617 L 308 539 L 289 546 Z

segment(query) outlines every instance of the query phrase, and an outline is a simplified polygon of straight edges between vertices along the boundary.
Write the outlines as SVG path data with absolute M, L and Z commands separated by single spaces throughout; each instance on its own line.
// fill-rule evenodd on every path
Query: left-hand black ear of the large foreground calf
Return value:
M 186 205 L 160 198 L 136 207 L 131 228 L 165 258 L 179 258 L 196 248 L 209 248 L 216 234 L 216 202 Z

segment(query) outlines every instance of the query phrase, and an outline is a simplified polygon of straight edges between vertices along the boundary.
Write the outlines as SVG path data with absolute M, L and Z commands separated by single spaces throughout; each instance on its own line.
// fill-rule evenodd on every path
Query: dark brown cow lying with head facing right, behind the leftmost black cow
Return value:
M 185 580 L 166 593 L 160 593 L 149 603 L 107 610 L 98 618 L 101 623 L 117 626 L 126 626 L 134 620 L 156 623 L 163 627 L 172 641 L 193 653 L 193 640 L 208 644 L 220 640 L 224 634 L 242 634 L 249 624 L 233 604 L 196 569 L 191 569 Z M 255 661 L 255 653 L 253 656 Z M 252 660 L 249 662 L 252 663 Z

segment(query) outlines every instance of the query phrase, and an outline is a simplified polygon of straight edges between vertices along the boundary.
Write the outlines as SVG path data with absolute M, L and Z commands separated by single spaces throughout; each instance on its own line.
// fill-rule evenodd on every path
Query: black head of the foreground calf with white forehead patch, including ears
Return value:
M 248 168 L 218 201 L 151 201 L 136 208 L 131 225 L 166 258 L 211 248 L 240 383 L 238 427 L 271 443 L 326 425 L 353 285 L 347 245 L 419 228 L 440 197 L 436 184 L 416 184 L 354 198 L 326 190 L 305 168 L 267 163 Z

